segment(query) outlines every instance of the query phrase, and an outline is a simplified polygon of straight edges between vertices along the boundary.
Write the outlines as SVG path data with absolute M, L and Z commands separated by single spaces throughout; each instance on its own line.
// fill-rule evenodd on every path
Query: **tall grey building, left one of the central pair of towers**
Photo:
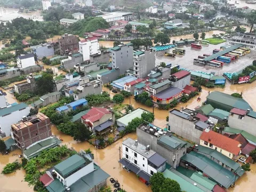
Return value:
M 133 46 L 131 43 L 121 44 L 110 49 L 111 68 L 118 69 L 122 75 L 133 67 Z

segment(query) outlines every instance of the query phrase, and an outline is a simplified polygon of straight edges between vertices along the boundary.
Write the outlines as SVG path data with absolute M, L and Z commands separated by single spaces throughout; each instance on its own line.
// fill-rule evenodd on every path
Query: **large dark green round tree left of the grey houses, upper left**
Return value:
M 43 95 L 51 93 L 54 89 L 53 76 L 51 74 L 43 73 L 36 81 L 37 93 Z

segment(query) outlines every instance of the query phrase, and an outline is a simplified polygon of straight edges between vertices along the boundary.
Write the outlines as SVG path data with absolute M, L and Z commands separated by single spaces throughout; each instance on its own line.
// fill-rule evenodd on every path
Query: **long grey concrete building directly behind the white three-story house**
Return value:
M 166 158 L 174 169 L 179 166 L 181 157 L 186 154 L 187 143 L 174 137 L 170 131 L 166 132 L 151 124 L 143 124 L 137 128 L 136 134 L 142 145 L 149 145 Z

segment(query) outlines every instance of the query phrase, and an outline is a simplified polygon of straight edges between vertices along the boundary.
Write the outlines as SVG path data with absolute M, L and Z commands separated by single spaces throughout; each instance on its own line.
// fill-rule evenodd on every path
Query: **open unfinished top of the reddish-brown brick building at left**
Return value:
M 24 129 L 28 126 L 33 126 L 34 124 L 37 124 L 41 121 L 44 121 L 45 119 L 49 119 L 46 115 L 42 113 L 38 113 L 36 115 L 30 116 L 26 118 L 23 121 L 20 121 L 18 123 L 12 124 L 13 129 L 19 131 L 21 129 Z

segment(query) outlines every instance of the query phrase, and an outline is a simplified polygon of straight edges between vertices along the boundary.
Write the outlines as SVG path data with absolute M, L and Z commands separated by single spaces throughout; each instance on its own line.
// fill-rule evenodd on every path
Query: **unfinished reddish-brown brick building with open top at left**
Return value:
M 12 138 L 21 150 L 52 135 L 50 119 L 42 113 L 23 118 L 11 127 Z

